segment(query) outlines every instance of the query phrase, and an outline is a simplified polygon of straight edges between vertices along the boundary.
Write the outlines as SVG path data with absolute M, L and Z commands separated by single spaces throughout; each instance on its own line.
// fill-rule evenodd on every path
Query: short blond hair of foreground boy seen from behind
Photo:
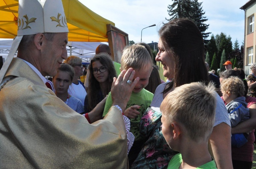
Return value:
M 211 82 L 184 84 L 175 88 L 162 101 L 160 110 L 171 124 L 174 121 L 185 127 L 195 142 L 209 139 L 215 120 L 216 92 Z

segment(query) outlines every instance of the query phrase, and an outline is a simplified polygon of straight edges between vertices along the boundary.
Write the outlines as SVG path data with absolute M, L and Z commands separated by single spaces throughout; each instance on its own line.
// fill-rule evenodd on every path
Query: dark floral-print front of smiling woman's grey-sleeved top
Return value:
M 140 132 L 142 136 L 148 139 L 142 146 L 142 150 L 132 164 L 131 169 L 166 169 L 170 159 L 178 153 L 169 147 L 162 135 L 162 113 L 159 107 L 163 100 L 162 91 L 165 85 L 166 83 L 162 83 L 158 86 L 152 100 L 152 107 L 148 107 L 141 118 Z

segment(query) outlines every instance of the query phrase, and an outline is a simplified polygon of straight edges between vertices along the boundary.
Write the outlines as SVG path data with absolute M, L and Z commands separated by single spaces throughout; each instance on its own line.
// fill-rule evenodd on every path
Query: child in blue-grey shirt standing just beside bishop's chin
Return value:
M 64 101 L 71 109 L 77 113 L 84 113 L 82 101 L 68 93 L 69 86 L 74 78 L 74 69 L 69 64 L 63 63 L 57 69 L 57 74 L 53 77 L 55 94 Z

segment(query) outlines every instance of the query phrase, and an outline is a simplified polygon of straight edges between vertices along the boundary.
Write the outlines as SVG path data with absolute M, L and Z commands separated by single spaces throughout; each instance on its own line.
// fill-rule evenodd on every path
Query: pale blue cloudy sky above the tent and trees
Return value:
M 157 31 L 169 18 L 167 6 L 171 0 L 79 0 L 85 6 L 102 17 L 115 23 L 115 26 L 129 34 L 129 40 L 151 43 L 158 42 Z M 232 42 L 238 39 L 241 45 L 244 39 L 244 11 L 239 8 L 248 0 L 198 0 L 203 2 L 205 17 L 210 24 L 207 32 L 212 34 L 225 33 L 231 36 Z

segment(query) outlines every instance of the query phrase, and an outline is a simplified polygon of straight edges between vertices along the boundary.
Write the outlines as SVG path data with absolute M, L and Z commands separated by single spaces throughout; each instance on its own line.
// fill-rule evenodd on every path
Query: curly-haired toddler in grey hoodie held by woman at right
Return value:
M 249 109 L 245 102 L 244 83 L 239 77 L 231 76 L 222 80 L 221 92 L 226 102 L 231 127 L 237 126 L 240 122 L 250 118 Z M 232 134 L 231 145 L 241 147 L 247 142 L 248 133 Z

